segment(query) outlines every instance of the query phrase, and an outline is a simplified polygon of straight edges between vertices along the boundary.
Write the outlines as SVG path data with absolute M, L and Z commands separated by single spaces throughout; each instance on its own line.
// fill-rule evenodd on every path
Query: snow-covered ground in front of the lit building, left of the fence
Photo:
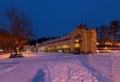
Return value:
M 0 82 L 112 82 L 89 66 L 88 55 L 30 53 L 0 55 Z

